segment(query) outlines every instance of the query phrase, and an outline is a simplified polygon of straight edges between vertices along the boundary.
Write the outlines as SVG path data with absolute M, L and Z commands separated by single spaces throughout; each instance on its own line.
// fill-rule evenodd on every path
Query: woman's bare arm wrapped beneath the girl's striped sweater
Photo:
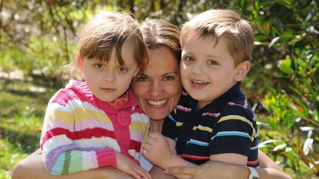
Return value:
M 41 150 L 38 149 L 13 167 L 12 179 L 134 179 L 111 166 L 100 167 L 87 171 L 66 174 L 63 176 L 50 175 L 42 160 Z

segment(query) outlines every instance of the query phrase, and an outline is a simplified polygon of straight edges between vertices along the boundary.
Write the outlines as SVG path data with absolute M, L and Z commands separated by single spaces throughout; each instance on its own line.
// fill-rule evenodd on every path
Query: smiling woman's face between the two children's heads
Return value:
M 180 64 L 167 47 L 149 51 L 146 70 L 136 76 L 132 90 L 146 115 L 161 120 L 173 111 L 181 97 Z

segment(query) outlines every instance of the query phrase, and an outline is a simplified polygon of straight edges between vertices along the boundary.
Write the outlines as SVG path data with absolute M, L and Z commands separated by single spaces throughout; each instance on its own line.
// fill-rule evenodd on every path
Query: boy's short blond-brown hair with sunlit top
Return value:
M 181 31 L 181 46 L 190 36 L 212 38 L 216 46 L 221 37 L 225 38 L 229 53 L 237 67 L 244 61 L 251 61 L 254 47 L 254 31 L 248 21 L 229 9 L 208 10 L 186 22 Z

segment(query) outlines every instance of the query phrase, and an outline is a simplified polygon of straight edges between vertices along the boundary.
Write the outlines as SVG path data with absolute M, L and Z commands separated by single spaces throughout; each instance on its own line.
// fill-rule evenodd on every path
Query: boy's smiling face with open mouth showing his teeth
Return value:
M 213 47 L 212 38 L 189 34 L 184 40 L 181 79 L 187 93 L 203 108 L 232 88 L 237 82 L 238 68 L 222 37 Z

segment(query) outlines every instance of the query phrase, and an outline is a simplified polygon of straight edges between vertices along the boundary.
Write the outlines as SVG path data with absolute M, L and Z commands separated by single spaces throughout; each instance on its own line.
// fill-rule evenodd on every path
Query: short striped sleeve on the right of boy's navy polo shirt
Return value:
M 235 153 L 248 157 L 256 129 L 256 122 L 244 107 L 225 107 L 213 129 L 210 155 Z

